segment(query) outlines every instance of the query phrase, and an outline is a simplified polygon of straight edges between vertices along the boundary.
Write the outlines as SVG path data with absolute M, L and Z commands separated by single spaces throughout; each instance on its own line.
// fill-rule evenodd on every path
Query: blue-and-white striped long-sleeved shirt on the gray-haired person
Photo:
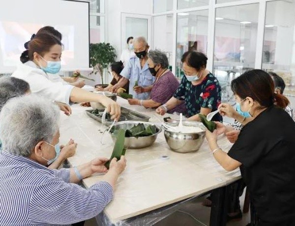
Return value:
M 113 188 L 69 183 L 70 170 L 48 169 L 25 157 L 0 154 L 0 226 L 71 225 L 99 214 Z

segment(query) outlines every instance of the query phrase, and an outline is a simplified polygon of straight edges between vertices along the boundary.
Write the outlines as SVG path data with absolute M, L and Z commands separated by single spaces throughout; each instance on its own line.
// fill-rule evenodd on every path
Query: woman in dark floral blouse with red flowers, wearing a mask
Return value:
M 181 58 L 184 76 L 180 85 L 167 103 L 156 109 L 160 115 L 185 100 L 189 120 L 200 121 L 198 114 L 207 115 L 217 110 L 221 103 L 221 87 L 217 78 L 206 69 L 207 57 L 200 52 L 189 51 Z M 216 114 L 212 121 L 222 122 L 222 116 Z

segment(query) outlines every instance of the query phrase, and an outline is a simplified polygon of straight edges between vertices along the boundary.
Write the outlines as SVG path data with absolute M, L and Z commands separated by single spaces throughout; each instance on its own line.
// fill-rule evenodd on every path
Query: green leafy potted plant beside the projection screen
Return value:
M 110 43 L 90 43 L 89 48 L 90 66 L 93 67 L 91 74 L 100 74 L 101 83 L 100 86 L 105 85 L 103 81 L 103 72 L 111 63 L 115 62 L 116 50 Z

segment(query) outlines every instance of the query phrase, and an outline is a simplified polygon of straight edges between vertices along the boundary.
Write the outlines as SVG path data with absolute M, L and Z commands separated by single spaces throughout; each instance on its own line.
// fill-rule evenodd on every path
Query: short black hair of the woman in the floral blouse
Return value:
M 181 62 L 188 66 L 200 70 L 202 66 L 206 68 L 208 58 L 204 53 L 196 51 L 187 51 L 181 57 Z

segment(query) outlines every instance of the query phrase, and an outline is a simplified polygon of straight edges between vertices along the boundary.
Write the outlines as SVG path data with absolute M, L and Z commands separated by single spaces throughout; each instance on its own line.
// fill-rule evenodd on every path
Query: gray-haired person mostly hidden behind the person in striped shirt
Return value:
M 29 95 L 30 93 L 31 92 L 28 82 L 10 76 L 0 77 L 0 111 L 9 99 Z M 64 106 L 62 103 L 57 104 L 59 105 L 59 108 Z M 63 163 L 63 161 L 75 154 L 76 148 L 77 143 L 75 143 L 72 139 L 70 139 L 66 145 L 57 146 L 56 149 L 59 155 L 57 155 L 54 160 L 49 162 L 50 165 L 48 167 L 52 169 L 58 168 Z

